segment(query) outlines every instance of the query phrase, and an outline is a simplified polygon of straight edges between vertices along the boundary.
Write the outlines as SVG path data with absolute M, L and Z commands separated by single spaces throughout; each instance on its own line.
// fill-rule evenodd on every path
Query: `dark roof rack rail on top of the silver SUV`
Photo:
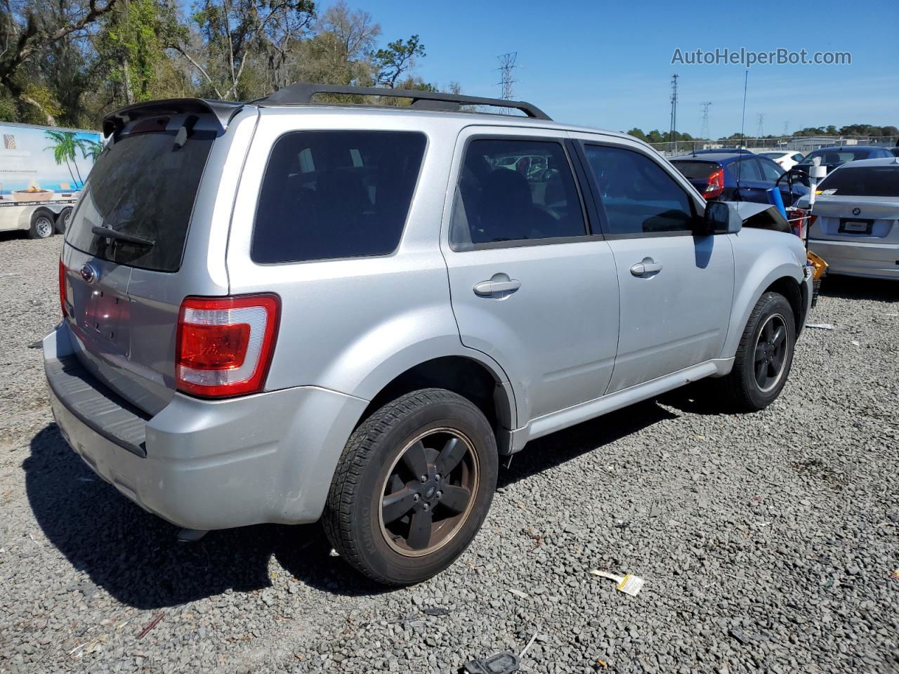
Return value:
M 494 108 L 512 108 L 520 110 L 535 120 L 550 120 L 546 112 L 536 105 L 524 101 L 503 101 L 499 98 L 480 98 L 478 96 L 460 96 L 455 93 L 434 93 L 417 89 L 388 89 L 379 86 L 347 86 L 343 84 L 314 84 L 298 82 L 270 93 L 254 103 L 283 103 L 310 105 L 317 93 L 346 93 L 357 96 L 384 96 L 390 98 L 411 98 L 412 107 L 422 110 L 458 111 L 463 105 L 485 105 Z

